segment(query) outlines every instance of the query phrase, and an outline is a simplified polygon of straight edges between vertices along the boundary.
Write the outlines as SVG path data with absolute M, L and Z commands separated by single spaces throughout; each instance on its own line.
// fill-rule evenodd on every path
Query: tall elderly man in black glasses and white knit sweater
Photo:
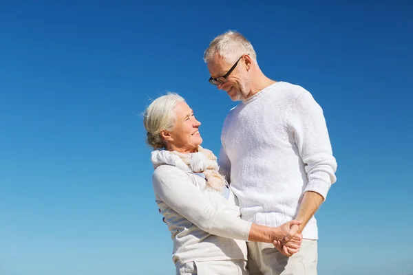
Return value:
M 248 243 L 249 256 L 264 275 L 317 274 L 314 214 L 337 169 L 321 107 L 303 87 L 265 76 L 253 46 L 240 33 L 213 39 L 204 61 L 209 82 L 240 101 L 224 121 L 219 162 L 242 219 L 268 226 L 301 221 L 275 247 Z M 290 254 L 286 246 L 295 234 L 302 234 L 303 242 Z

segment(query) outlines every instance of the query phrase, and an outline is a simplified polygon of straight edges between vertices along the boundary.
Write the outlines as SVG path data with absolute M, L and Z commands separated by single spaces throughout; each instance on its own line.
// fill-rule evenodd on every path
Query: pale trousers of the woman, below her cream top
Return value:
M 176 267 L 176 275 L 249 275 L 246 261 L 189 262 Z

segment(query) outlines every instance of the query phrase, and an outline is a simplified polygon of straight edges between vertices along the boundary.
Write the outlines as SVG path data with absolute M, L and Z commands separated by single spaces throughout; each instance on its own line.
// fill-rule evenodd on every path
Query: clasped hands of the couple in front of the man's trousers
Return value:
M 299 252 L 301 243 L 303 241 L 303 235 L 299 228 L 299 221 L 288 221 L 279 226 L 283 236 L 273 241 L 273 245 L 284 256 L 293 256 L 293 254 Z

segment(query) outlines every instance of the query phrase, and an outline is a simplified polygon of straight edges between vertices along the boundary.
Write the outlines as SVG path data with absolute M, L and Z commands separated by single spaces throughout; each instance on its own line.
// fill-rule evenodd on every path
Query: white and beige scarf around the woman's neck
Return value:
M 162 164 L 169 164 L 187 173 L 203 173 L 207 179 L 207 184 L 220 192 L 226 185 L 224 177 L 218 173 L 217 157 L 201 146 L 198 146 L 198 152 L 189 154 L 166 150 L 152 151 L 151 162 L 154 168 Z

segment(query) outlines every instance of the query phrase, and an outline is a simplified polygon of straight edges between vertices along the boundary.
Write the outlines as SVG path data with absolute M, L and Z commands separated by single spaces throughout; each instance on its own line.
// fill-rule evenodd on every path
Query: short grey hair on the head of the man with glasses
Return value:
M 226 63 L 235 63 L 243 54 L 251 56 L 257 62 L 257 54 L 253 45 L 239 32 L 229 30 L 215 37 L 204 53 L 204 62 L 211 60 L 218 52 Z

